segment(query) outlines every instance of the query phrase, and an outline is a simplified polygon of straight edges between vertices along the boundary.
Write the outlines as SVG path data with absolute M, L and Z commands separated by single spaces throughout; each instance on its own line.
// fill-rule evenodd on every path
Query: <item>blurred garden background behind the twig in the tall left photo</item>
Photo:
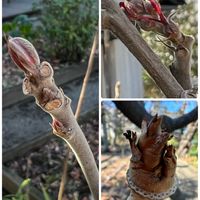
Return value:
M 66 155 L 68 172 L 63 200 L 87 200 L 90 197 L 73 153 L 60 138 L 52 135 L 50 116 L 35 105 L 33 97 L 22 93 L 24 75 L 11 61 L 6 39 L 8 35 L 19 36 L 35 46 L 41 62 L 45 60 L 52 65 L 55 81 L 72 99 L 72 109 L 75 111 L 98 27 L 97 13 L 98 2 L 95 0 L 3 0 L 5 200 L 11 199 L 10 194 L 15 194 L 12 197 L 15 200 L 57 199 Z M 79 123 L 97 164 L 98 91 L 96 50 Z

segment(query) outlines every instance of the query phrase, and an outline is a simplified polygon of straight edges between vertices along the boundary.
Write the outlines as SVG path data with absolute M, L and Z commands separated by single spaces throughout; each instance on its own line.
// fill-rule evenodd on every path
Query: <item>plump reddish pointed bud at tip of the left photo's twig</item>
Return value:
M 14 63 L 26 74 L 37 74 L 40 58 L 28 40 L 21 37 L 9 37 L 8 52 Z

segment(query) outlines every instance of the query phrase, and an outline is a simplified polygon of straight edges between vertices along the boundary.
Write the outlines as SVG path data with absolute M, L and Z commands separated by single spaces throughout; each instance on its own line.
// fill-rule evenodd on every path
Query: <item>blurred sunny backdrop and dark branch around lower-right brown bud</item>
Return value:
M 103 101 L 101 120 L 102 199 L 127 199 L 126 171 L 131 158 L 126 130 L 140 134 L 143 119 L 163 116 L 163 128 L 174 137 L 179 189 L 170 199 L 198 199 L 198 124 L 196 101 Z

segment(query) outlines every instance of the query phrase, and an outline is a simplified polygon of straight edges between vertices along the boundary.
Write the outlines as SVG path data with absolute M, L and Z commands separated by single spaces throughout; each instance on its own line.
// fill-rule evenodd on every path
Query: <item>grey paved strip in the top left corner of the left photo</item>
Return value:
M 32 4 L 39 0 L 3 0 L 3 19 L 32 11 Z

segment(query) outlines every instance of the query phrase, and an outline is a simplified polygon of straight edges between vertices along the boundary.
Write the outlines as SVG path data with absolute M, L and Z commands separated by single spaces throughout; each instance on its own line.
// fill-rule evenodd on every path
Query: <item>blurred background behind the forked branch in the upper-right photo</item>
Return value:
M 120 0 L 116 0 L 119 3 Z M 174 21 L 179 24 L 184 34 L 195 38 L 192 55 L 192 82 L 197 85 L 197 1 L 195 0 L 160 0 L 166 15 L 176 10 Z M 174 56 L 161 42 L 157 42 L 156 34 L 141 31 L 153 51 L 169 66 Z M 105 98 L 162 98 L 165 97 L 152 78 L 143 69 L 138 60 L 125 45 L 107 30 L 102 34 L 102 66 L 101 94 Z

